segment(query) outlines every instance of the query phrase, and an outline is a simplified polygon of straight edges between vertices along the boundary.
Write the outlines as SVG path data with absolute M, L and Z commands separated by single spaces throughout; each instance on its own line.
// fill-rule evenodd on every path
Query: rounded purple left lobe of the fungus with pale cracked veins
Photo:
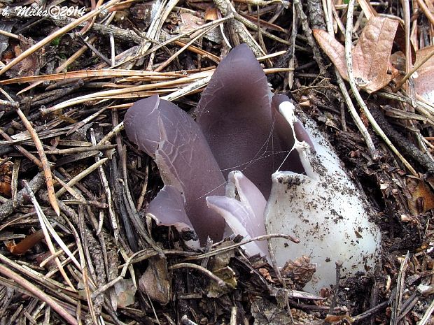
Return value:
M 134 103 L 124 124 L 128 138 L 155 159 L 165 186 L 171 186 L 151 204 L 158 214 L 154 217 L 169 225 L 182 223 L 187 215 L 201 243 L 207 236 L 221 240 L 225 222 L 207 208 L 205 197 L 223 195 L 225 179 L 193 118 L 155 95 Z M 185 200 L 185 211 L 176 212 L 182 204 L 175 189 Z M 171 213 L 165 213 L 159 202 L 171 200 Z

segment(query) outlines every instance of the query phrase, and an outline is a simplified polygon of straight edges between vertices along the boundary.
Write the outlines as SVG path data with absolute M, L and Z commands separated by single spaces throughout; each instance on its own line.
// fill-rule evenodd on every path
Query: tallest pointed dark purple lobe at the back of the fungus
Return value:
M 196 108 L 197 123 L 223 173 L 242 171 L 267 198 L 286 153 L 273 130 L 271 92 L 246 44 L 222 60 Z

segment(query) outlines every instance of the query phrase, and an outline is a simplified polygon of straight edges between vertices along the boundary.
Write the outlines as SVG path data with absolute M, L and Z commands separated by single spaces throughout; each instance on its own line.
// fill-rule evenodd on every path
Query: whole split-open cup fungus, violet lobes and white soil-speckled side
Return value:
M 160 224 L 193 226 L 202 243 L 221 239 L 225 222 L 246 238 L 296 236 L 300 244 L 271 244 L 279 266 L 302 255 L 317 264 L 309 291 L 335 282 L 337 260 L 342 275 L 375 267 L 380 234 L 364 194 L 316 124 L 303 116 L 303 127 L 287 96 L 271 96 L 247 45 L 218 65 L 196 114 L 197 123 L 152 96 L 125 115 L 128 138 L 155 159 L 165 182 L 148 207 Z M 268 255 L 264 242 L 244 248 Z

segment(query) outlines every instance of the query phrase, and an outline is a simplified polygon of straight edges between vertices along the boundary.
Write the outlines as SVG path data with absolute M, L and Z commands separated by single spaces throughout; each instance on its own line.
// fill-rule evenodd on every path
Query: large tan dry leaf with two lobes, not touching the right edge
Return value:
M 372 17 L 353 48 L 353 73 L 358 86 L 372 93 L 388 84 L 395 76 L 389 58 L 398 22 L 386 17 Z M 314 30 L 316 41 L 335 64 L 342 78 L 348 80 L 344 45 L 326 31 Z

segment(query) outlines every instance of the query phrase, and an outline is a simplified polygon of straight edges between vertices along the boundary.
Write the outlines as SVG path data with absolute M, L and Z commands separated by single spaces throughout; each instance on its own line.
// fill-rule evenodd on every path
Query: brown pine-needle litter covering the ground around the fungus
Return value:
M 320 3 L 304 7 L 297 1 L 240 1 L 235 2 L 235 15 L 225 1 L 111 6 L 113 2 L 94 21 L 68 31 L 61 29 L 71 23 L 67 17 L 23 17 L 10 3 L 7 10 L 8 3 L 0 3 L 1 324 L 76 324 L 77 315 L 82 322 L 100 324 L 395 325 L 421 319 L 421 325 L 432 324 L 432 115 L 407 106 L 404 102 L 411 98 L 401 91 L 400 98 L 393 97 L 391 86 L 361 92 L 379 127 L 415 173 L 377 136 L 353 99 L 377 150 L 370 152 L 348 113 L 333 64 L 312 43 L 308 27 L 325 28 Z M 22 6 L 38 5 L 26 1 Z M 85 13 L 98 10 L 87 1 L 64 1 L 62 6 L 77 7 L 77 18 L 80 8 Z M 421 48 L 430 45 L 425 40 L 432 38 L 432 25 L 413 6 L 415 46 Z M 345 24 L 346 6 L 335 8 L 337 21 Z M 398 3 L 380 2 L 375 10 L 404 18 Z M 197 34 L 204 32 L 205 20 L 212 24 L 228 15 L 236 19 Z M 359 7 L 354 24 L 356 41 L 366 24 Z M 176 52 L 192 39 L 181 34 L 192 29 L 197 29 L 192 37 L 200 37 Z M 157 228 L 144 217 L 162 181 L 152 159 L 127 141 L 119 127 L 125 108 L 151 94 L 169 99 L 178 94 L 175 102 L 181 108 L 194 108 L 200 94 L 189 87 L 207 76 L 195 73 L 214 68 L 229 50 L 221 31 L 232 45 L 251 42 L 251 34 L 264 54 L 276 53 L 263 62 L 265 68 L 294 68 L 268 71 L 267 78 L 330 136 L 377 211 L 383 251 L 374 276 L 342 280 L 337 293 L 324 290 L 321 300 L 297 291 L 305 280 L 302 272 L 286 279 L 288 290 L 282 289 L 272 267 L 239 250 L 240 238 L 191 252 L 176 231 Z M 344 43 L 342 33 L 335 37 Z M 34 44 L 41 46 L 26 55 Z M 113 92 L 102 93 L 107 90 Z M 44 156 L 52 164 L 51 173 Z M 48 185 L 44 166 L 45 175 L 53 178 Z M 47 227 L 45 232 L 57 237 L 47 240 Z M 20 242 L 22 238 L 27 239 Z M 58 252 L 58 259 L 50 251 Z M 137 281 L 137 291 L 131 279 Z M 49 307 L 50 299 L 57 308 Z

